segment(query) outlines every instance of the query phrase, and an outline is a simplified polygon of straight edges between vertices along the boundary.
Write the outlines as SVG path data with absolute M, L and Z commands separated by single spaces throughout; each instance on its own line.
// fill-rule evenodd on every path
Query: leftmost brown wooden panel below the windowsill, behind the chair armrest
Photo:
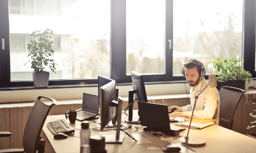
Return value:
M 10 108 L 0 108 L 0 117 L 0 131 L 10 132 Z M 0 149 L 10 149 L 10 137 L 0 138 Z

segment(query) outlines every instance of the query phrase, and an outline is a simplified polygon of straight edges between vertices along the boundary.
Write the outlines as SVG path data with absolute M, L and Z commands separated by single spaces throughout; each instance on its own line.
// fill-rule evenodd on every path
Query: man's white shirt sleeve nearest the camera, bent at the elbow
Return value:
M 215 88 L 208 88 L 204 93 L 204 108 L 201 111 L 195 111 L 193 114 L 193 118 L 197 119 L 212 119 L 218 101 L 218 91 Z M 184 106 L 186 107 L 186 106 Z M 183 118 L 191 118 L 192 112 L 183 112 Z

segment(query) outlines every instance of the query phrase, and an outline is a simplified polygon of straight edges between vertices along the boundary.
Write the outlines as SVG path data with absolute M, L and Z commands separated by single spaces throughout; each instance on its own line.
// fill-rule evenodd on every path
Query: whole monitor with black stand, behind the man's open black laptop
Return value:
M 145 89 L 145 84 L 144 84 L 144 79 L 142 74 L 132 71 L 131 80 L 132 80 L 133 90 L 129 91 L 129 96 L 128 96 L 129 118 L 127 122 L 137 124 L 139 123 L 139 120 L 138 121 L 132 120 L 133 101 L 138 100 L 141 102 L 147 102 L 147 94 L 146 94 L 146 89 Z

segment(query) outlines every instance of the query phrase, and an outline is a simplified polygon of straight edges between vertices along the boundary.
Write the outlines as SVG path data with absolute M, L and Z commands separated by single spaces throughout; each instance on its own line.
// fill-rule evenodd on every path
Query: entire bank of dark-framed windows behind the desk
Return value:
M 202 61 L 210 74 L 209 61 L 232 55 L 256 76 L 254 0 L 64 1 L 0 1 L 0 36 L 7 40 L 0 48 L 0 79 L 6 86 L 32 86 L 32 69 L 24 66 L 28 35 L 49 28 L 59 64 L 49 85 L 97 83 L 98 75 L 126 83 L 131 71 L 146 82 L 179 81 L 189 58 Z M 44 22 L 29 20 L 38 17 Z

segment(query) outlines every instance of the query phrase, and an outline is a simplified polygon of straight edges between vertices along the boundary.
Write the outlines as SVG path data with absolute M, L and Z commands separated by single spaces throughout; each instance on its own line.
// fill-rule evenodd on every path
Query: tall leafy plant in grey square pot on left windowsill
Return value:
M 31 62 L 33 83 L 35 87 L 47 87 L 49 82 L 50 73 L 45 71 L 45 66 L 49 66 L 49 69 L 56 74 L 56 65 L 50 56 L 53 56 L 55 48 L 53 46 L 54 41 L 50 36 L 54 34 L 52 30 L 47 29 L 43 31 L 35 30 L 30 34 L 30 43 L 28 46 L 28 56 L 31 58 L 25 63 Z

